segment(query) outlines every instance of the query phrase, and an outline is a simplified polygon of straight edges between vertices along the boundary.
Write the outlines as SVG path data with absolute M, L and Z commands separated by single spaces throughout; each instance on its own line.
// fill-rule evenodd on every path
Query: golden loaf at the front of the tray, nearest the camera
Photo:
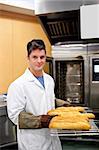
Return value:
M 65 119 L 61 116 L 56 116 L 51 120 L 49 128 L 67 130 L 89 130 L 91 126 L 88 121 L 83 119 Z

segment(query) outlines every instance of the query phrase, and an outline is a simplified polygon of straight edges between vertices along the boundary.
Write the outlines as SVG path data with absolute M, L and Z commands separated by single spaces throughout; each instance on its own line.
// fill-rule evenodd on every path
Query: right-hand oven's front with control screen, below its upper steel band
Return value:
M 90 61 L 90 107 L 99 114 L 99 54 L 89 56 Z

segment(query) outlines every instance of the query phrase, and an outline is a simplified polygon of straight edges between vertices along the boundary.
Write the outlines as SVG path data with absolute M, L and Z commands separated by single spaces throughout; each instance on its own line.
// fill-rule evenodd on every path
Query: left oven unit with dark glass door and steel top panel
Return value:
M 67 46 L 69 47 L 66 45 L 53 47 L 56 97 L 68 100 L 72 104 L 87 104 L 87 94 L 86 98 L 84 97 L 85 91 L 87 92 L 84 83 L 88 84 L 87 79 L 84 78 L 87 69 L 87 66 L 85 67 L 86 47 Z

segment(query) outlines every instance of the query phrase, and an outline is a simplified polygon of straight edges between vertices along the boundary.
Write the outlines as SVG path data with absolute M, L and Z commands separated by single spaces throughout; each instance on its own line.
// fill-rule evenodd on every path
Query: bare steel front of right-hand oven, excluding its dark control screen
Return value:
M 89 64 L 89 106 L 94 112 L 99 113 L 99 81 L 93 81 L 93 59 L 99 59 L 99 43 L 88 44 Z

